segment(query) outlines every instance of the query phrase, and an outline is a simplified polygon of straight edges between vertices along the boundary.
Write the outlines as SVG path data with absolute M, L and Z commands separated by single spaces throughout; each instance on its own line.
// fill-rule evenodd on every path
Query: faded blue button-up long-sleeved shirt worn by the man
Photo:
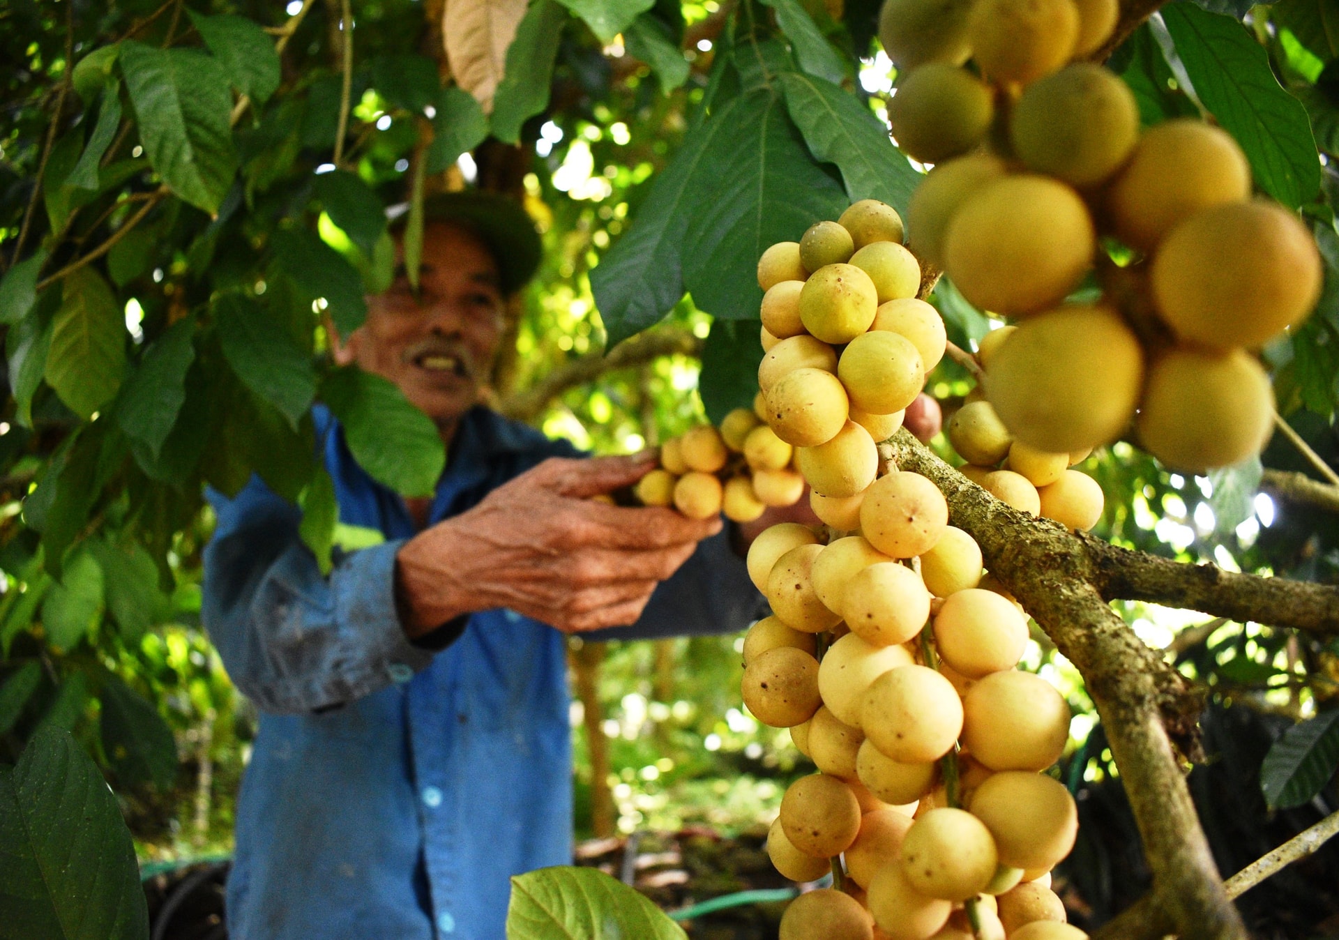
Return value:
M 562 635 L 511 611 L 469 619 L 439 652 L 410 643 L 392 595 L 415 533 L 404 502 L 317 408 L 340 522 L 387 541 L 323 576 L 299 510 L 253 479 L 205 549 L 202 619 L 261 710 L 237 802 L 228 882 L 234 940 L 501 940 L 509 877 L 572 860 Z M 430 522 L 565 442 L 475 408 L 461 422 Z M 599 639 L 744 628 L 761 597 L 724 533 L 704 541 L 631 628 Z

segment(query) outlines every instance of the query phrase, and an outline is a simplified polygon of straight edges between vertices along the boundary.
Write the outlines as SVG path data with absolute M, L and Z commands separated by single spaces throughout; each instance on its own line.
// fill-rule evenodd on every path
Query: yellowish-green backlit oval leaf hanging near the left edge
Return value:
M 91 266 L 66 276 L 51 328 L 47 384 L 80 418 L 107 404 L 126 374 L 126 317 Z

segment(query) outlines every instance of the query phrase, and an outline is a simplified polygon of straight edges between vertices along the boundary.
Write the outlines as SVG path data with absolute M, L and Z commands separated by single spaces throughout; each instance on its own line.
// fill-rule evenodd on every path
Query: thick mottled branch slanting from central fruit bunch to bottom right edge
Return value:
M 928 477 L 986 566 L 1083 675 L 1121 770 L 1160 904 L 1190 940 L 1245 940 L 1223 889 L 1172 739 L 1193 742 L 1198 703 L 1098 593 L 1087 541 L 991 497 L 909 431 L 892 438 L 904 470 Z M 1125 940 L 1161 937 L 1131 932 Z

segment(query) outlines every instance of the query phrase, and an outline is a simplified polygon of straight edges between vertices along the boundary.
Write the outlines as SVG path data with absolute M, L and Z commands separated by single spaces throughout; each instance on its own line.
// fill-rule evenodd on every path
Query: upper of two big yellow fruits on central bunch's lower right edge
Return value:
M 991 770 L 1046 770 L 1070 738 L 1069 703 L 1046 679 L 1019 670 L 972 686 L 963 715 L 963 746 Z

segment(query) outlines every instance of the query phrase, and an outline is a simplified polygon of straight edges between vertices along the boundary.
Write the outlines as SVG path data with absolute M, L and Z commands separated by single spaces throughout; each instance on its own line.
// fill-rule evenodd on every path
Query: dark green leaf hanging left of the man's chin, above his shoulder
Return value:
M 214 300 L 224 358 L 242 383 L 297 427 L 316 398 L 311 356 L 269 311 L 240 293 Z

